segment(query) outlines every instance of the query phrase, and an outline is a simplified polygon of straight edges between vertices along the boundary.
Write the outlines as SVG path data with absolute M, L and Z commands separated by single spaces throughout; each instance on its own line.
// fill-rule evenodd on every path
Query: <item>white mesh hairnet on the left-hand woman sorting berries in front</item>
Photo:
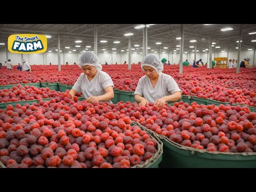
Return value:
M 94 66 L 97 68 L 97 71 L 101 71 L 102 66 L 100 65 L 99 58 L 94 53 L 87 51 L 81 54 L 78 60 L 78 67 L 82 68 L 81 66 Z

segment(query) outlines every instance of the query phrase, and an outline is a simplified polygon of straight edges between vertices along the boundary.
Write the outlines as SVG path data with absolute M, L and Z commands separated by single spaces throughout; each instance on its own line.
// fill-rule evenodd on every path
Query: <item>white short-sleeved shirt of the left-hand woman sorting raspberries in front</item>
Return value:
M 92 95 L 99 96 L 105 94 L 104 89 L 107 86 L 114 87 L 111 77 L 104 71 L 97 71 L 91 82 L 87 75 L 82 73 L 72 88 L 77 92 L 82 92 L 84 98 L 87 99 Z M 112 103 L 111 100 L 108 100 L 108 103 Z

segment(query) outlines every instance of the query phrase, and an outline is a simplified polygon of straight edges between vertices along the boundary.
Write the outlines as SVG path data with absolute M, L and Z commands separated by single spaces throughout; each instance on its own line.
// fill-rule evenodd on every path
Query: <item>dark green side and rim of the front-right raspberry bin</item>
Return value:
M 169 168 L 255 168 L 256 153 L 221 153 L 194 149 L 160 136 L 164 143 L 160 167 Z

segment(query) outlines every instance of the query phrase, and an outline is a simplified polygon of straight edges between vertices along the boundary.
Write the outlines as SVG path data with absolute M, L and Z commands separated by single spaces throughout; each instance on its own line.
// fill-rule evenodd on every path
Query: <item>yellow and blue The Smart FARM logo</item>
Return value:
M 47 50 L 47 38 L 38 34 L 10 35 L 8 50 L 11 53 L 44 53 Z

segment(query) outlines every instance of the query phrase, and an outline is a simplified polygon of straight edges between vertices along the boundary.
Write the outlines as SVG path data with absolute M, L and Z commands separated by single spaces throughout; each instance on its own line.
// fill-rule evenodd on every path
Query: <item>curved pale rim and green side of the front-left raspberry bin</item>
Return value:
M 159 164 L 162 161 L 162 156 L 163 156 L 163 142 L 157 138 L 155 132 L 149 132 L 148 129 L 141 124 L 137 122 L 132 122 L 131 126 L 138 126 L 142 131 L 146 131 L 150 138 L 153 138 L 156 140 L 156 153 L 153 155 L 151 158 L 149 158 L 145 163 L 141 165 L 135 165 L 132 168 L 158 168 Z M 151 131 L 151 130 L 150 130 Z

